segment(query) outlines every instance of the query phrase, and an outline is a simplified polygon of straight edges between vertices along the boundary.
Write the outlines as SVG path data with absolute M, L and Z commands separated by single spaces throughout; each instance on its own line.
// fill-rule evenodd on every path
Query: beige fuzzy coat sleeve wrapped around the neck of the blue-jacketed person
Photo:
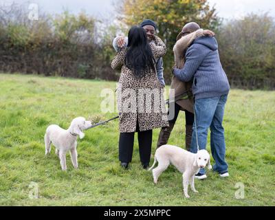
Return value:
M 184 58 L 184 50 L 190 46 L 190 44 L 199 36 L 203 35 L 203 29 L 199 29 L 196 32 L 192 32 L 186 36 L 182 36 L 175 46 L 173 47 L 175 65 L 179 68 L 181 60 Z

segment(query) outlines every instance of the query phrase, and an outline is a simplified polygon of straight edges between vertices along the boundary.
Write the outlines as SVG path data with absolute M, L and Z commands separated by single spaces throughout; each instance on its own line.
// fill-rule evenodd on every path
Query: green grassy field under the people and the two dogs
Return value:
M 0 74 L 1 206 L 275 205 L 274 91 L 232 89 L 224 120 L 230 177 L 208 171 L 208 179 L 195 181 L 199 194 L 190 192 L 185 199 L 181 174 L 172 166 L 153 185 L 151 173 L 140 166 L 137 138 L 131 168 L 120 168 L 118 120 L 86 131 L 78 141 L 78 170 L 69 154 L 67 172 L 54 151 L 45 157 L 49 124 L 67 128 L 80 115 L 100 120 L 116 115 L 100 112 L 104 88 L 114 90 L 115 83 Z M 158 133 L 153 132 L 153 153 Z M 184 113 L 169 143 L 184 146 Z M 39 199 L 29 198 L 32 182 L 39 186 Z M 245 186 L 243 199 L 235 197 L 237 183 Z

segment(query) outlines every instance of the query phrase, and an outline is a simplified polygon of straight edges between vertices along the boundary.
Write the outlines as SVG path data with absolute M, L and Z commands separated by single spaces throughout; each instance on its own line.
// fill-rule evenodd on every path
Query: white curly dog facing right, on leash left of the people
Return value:
M 62 129 L 60 126 L 56 124 L 52 124 L 47 127 L 45 133 L 45 155 L 50 153 L 51 144 L 54 144 L 56 147 L 56 155 L 59 156 L 61 162 L 62 170 L 67 170 L 66 166 L 66 153 L 69 151 L 72 158 L 72 164 L 74 168 L 78 168 L 78 160 L 77 160 L 77 137 L 83 139 L 85 134 L 84 130 L 89 129 L 91 127 L 91 122 L 86 121 L 85 118 L 79 117 L 72 120 L 71 126 L 69 129 Z

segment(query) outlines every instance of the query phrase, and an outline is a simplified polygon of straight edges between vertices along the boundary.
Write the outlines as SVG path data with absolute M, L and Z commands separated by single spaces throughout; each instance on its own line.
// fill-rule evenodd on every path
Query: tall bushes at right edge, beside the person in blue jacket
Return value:
M 275 88 L 275 23 L 268 14 L 228 21 L 217 34 L 225 72 L 234 87 Z

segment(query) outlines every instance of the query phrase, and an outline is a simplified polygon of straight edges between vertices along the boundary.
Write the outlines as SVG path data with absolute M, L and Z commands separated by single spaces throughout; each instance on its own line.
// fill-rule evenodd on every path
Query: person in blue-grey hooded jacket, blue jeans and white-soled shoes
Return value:
M 193 80 L 192 94 L 195 97 L 196 123 L 193 124 L 191 152 L 197 153 L 197 138 L 199 149 L 206 149 L 208 128 L 210 128 L 210 146 L 215 160 L 213 170 L 221 177 L 228 177 L 222 122 L 230 85 L 219 59 L 217 40 L 211 36 L 195 39 L 186 52 L 184 68 L 174 68 L 173 74 L 184 82 Z M 203 168 L 196 175 L 197 179 L 206 179 L 206 177 Z

